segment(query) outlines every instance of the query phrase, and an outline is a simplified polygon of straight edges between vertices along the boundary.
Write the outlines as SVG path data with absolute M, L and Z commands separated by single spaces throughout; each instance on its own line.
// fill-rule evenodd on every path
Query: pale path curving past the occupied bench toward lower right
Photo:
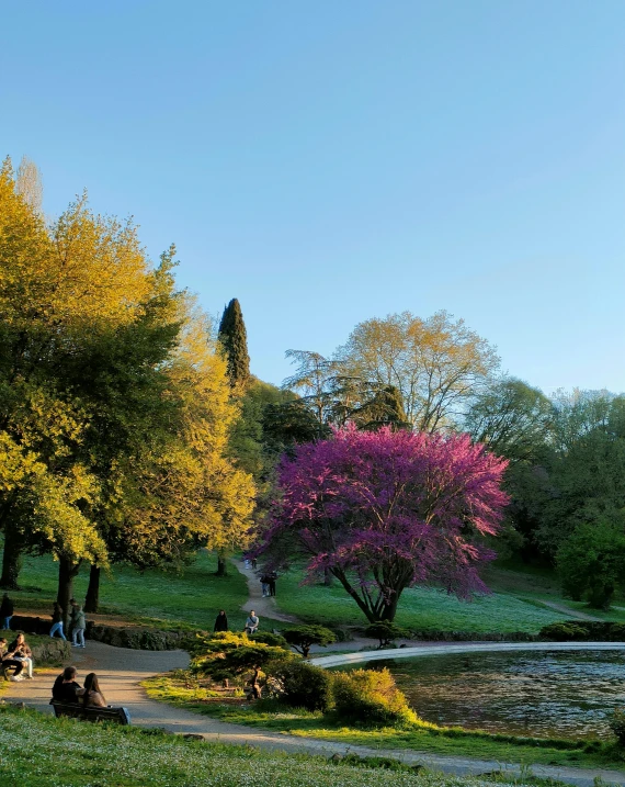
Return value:
M 468 645 L 436 645 L 435 652 L 458 647 L 468 648 Z M 490 648 L 496 649 L 497 645 L 491 644 Z M 387 652 L 386 655 L 397 656 L 398 653 L 402 653 L 402 651 L 393 650 Z M 384 655 L 382 651 L 377 651 L 376 654 L 367 654 L 367 656 L 371 657 L 377 654 L 379 654 L 378 657 Z M 500 762 L 495 761 L 424 754 L 406 750 L 355 746 L 332 741 L 297 738 L 296 735 L 284 733 L 264 732 L 239 724 L 225 723 L 149 699 L 138 685 L 139 682 L 149 675 L 186 666 L 189 656 L 183 651 L 133 651 L 113 648 L 101 642 L 88 642 L 87 649 L 75 650 L 73 656 L 73 663 L 79 670 L 79 678 L 83 678 L 87 672 L 96 672 L 107 701 L 112 705 L 127 707 L 135 724 L 161 727 L 177 733 L 201 734 L 207 741 L 250 744 L 269 750 L 320 754 L 326 757 L 334 753 L 344 754 L 348 751 L 361 756 L 394 756 L 406 763 L 421 763 L 433 769 L 461 775 L 478 775 L 502 769 L 514 775 L 521 774 L 519 766 L 502 765 Z M 38 675 L 35 674 L 34 681 L 7 684 L 3 698 L 10 701 L 24 701 L 26 705 L 44 712 L 52 712 L 49 697 L 55 673 L 47 671 Z M 601 776 L 605 782 L 625 786 L 625 773 L 618 771 L 590 771 L 536 765 L 532 767 L 532 772 L 536 776 L 558 778 L 579 787 L 593 787 L 594 779 L 598 776 Z

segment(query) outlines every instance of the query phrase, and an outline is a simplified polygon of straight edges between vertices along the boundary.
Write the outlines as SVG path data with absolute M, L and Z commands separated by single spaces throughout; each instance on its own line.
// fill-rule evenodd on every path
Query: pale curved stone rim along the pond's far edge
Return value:
M 378 651 L 359 651 L 341 655 L 310 659 L 309 664 L 320 667 L 362 664 L 383 659 L 410 659 L 428 655 L 452 655 L 454 653 L 505 653 L 510 651 L 620 651 L 625 642 L 497 642 L 464 645 L 423 645 L 420 648 L 389 648 Z

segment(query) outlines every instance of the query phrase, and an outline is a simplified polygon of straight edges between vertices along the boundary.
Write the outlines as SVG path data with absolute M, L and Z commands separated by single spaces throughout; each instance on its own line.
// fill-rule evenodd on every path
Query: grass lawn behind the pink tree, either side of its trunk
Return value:
M 365 617 L 341 585 L 302 585 L 304 572 L 292 569 L 277 582 L 276 602 L 284 612 L 306 621 L 334 626 L 366 625 Z M 532 599 L 508 593 L 462 602 L 445 592 L 413 587 L 404 592 L 396 622 L 413 630 L 537 633 L 543 626 L 567 616 Z

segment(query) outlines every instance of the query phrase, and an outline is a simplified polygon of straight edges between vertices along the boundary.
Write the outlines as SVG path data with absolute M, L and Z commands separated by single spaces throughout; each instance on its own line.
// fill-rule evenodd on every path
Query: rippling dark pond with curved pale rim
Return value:
M 425 721 L 522 735 L 609 738 L 625 707 L 625 652 L 469 653 L 387 666 Z

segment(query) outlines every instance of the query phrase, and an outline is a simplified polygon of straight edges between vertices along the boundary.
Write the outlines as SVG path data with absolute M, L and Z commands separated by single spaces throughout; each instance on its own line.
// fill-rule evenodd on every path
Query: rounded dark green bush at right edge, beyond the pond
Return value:
M 623 515 L 610 521 L 578 525 L 557 553 L 562 591 L 575 600 L 588 597 L 591 607 L 607 609 L 625 584 Z

